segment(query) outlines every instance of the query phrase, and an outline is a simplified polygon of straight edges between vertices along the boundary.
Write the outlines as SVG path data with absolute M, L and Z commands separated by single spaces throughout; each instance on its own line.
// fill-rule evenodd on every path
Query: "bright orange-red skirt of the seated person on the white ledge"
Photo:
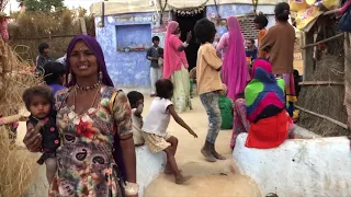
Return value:
M 271 149 L 282 144 L 288 135 L 290 116 L 283 111 L 280 114 L 250 124 L 246 147 Z

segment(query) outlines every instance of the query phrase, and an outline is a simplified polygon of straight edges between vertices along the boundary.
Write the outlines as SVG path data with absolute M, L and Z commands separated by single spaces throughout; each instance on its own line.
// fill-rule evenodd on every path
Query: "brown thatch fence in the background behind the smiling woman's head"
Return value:
M 94 18 L 87 16 L 86 10 L 61 10 L 53 13 L 23 12 L 13 15 L 9 24 L 10 45 L 25 60 L 34 61 L 38 45 L 47 43 L 53 58 L 63 57 L 70 39 L 81 34 L 79 18 L 86 19 L 87 32 L 94 35 Z

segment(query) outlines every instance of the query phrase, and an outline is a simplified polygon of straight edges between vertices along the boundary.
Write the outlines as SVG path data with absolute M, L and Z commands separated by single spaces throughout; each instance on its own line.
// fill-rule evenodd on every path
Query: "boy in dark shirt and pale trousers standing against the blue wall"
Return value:
M 147 50 L 146 58 L 150 60 L 150 79 L 151 79 L 151 97 L 156 96 L 155 83 L 162 76 L 163 48 L 159 47 L 160 38 L 158 36 L 152 37 L 152 46 Z

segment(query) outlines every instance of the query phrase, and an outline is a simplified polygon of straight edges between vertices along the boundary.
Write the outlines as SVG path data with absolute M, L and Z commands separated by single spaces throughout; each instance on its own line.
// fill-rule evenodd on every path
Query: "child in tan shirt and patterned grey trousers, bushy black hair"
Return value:
M 194 30 L 196 37 L 201 42 L 196 62 L 197 90 L 210 121 L 206 141 L 201 149 L 201 153 L 208 162 L 215 162 L 226 159 L 217 153 L 215 149 L 222 125 L 218 100 L 219 91 L 224 90 L 219 76 L 223 62 L 212 45 L 216 34 L 214 23 L 207 19 L 203 19 L 196 22 Z M 244 49 L 244 43 L 241 43 L 241 45 Z

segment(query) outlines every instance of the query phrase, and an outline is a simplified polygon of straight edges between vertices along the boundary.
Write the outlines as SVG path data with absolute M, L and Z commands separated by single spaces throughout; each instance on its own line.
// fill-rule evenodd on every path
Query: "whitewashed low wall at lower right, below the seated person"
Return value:
M 233 158 L 264 196 L 351 196 L 351 152 L 346 137 L 286 140 L 275 149 L 248 149 L 237 138 Z

